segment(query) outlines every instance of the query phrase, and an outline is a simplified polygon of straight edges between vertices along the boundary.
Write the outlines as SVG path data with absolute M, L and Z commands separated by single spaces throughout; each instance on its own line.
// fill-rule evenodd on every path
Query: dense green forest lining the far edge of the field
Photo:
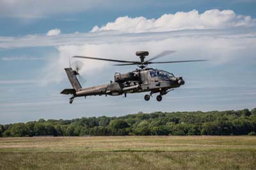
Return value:
M 256 108 L 239 111 L 152 112 L 120 117 L 44 120 L 0 125 L 0 137 L 88 135 L 255 135 Z

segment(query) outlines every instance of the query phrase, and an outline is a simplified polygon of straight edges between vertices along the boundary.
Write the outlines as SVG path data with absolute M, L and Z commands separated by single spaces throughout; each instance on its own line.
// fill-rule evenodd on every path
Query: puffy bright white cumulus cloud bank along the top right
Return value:
M 256 20 L 250 16 L 237 15 L 232 10 L 207 10 L 198 13 L 177 12 L 164 14 L 158 19 L 146 19 L 145 17 L 118 17 L 114 22 L 108 22 L 105 26 L 95 26 L 96 31 L 122 31 L 127 33 L 176 31 L 182 29 L 227 29 L 234 27 L 252 27 Z

